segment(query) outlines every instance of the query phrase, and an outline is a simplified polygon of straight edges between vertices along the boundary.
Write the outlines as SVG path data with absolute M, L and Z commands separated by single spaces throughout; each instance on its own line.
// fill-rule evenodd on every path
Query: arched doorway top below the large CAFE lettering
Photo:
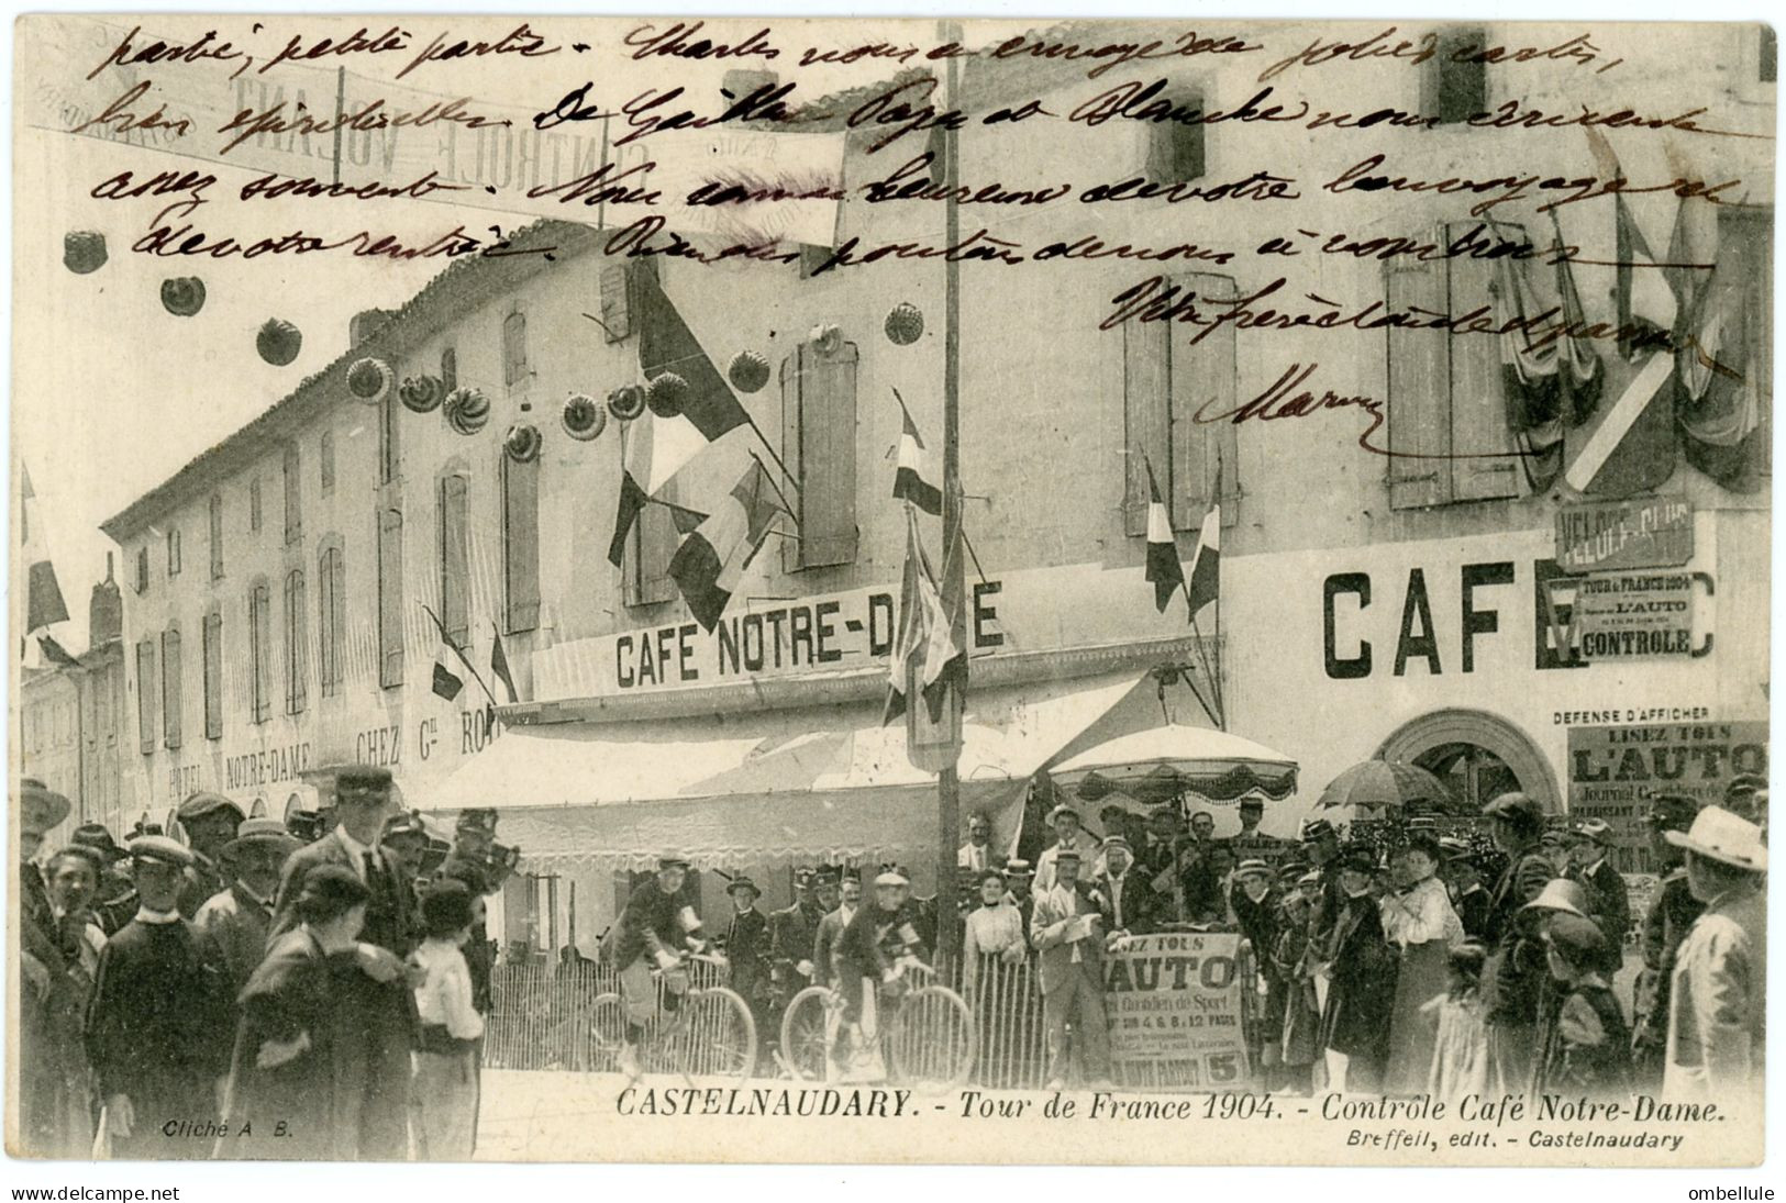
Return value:
M 1547 812 L 1561 810 L 1556 773 L 1513 723 L 1484 710 L 1434 710 L 1382 741 L 1384 760 L 1416 764 L 1450 785 L 1465 814 L 1518 789 Z

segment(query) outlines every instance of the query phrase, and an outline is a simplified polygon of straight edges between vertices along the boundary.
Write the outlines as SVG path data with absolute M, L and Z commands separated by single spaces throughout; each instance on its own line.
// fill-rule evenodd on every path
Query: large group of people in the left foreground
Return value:
M 445 846 L 395 810 L 389 771 L 352 767 L 298 823 L 198 792 L 177 810 L 184 842 L 82 825 L 39 862 L 70 803 L 36 780 L 18 801 L 25 1149 L 472 1155 L 484 898 L 511 864 L 495 810 L 461 814 Z

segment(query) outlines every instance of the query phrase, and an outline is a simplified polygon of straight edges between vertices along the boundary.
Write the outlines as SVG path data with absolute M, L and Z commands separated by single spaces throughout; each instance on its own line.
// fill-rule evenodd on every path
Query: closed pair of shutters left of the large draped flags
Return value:
M 1436 237 L 1443 246 L 1477 225 L 1441 227 Z M 1495 234 L 1513 243 L 1525 237 L 1523 228 L 1507 225 Z M 1493 259 L 1398 257 L 1384 270 L 1386 307 L 1465 314 L 1495 303 L 1493 275 Z M 1520 466 L 1502 402 L 1500 339 L 1390 327 L 1388 369 L 1386 464 L 1393 509 L 1518 496 Z

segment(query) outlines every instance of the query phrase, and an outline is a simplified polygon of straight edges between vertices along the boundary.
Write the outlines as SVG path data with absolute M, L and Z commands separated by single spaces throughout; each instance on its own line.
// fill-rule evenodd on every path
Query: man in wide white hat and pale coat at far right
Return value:
M 1686 880 L 1706 910 L 1675 958 L 1663 1096 L 1747 1096 L 1766 1053 L 1768 850 L 1757 825 L 1723 807 L 1665 839 L 1686 851 Z

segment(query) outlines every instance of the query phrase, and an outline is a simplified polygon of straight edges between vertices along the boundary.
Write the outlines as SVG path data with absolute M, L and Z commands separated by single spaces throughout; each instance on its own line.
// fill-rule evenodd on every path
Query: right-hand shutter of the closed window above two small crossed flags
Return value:
M 1234 300 L 1234 280 L 1225 275 L 1188 273 L 1173 282 L 1198 302 Z M 1207 309 L 1206 305 L 1198 305 Z M 1168 375 L 1172 405 L 1172 507 L 1173 530 L 1200 530 L 1204 510 L 1213 500 L 1216 475 L 1222 477 L 1222 525 L 1232 527 L 1239 514 L 1239 441 L 1232 421 L 1197 421 L 1197 412 L 1234 409 L 1238 387 L 1234 364 L 1234 327 L 1223 325 L 1202 343 L 1193 339 L 1204 327 L 1166 323 L 1170 341 Z M 1159 464 L 1154 466 L 1156 471 Z M 1143 473 L 1145 477 L 1145 473 Z M 1147 487 L 1147 482 L 1141 482 Z M 1161 482 L 1166 487 L 1166 482 Z M 1145 516 L 1143 516 L 1145 518 Z

